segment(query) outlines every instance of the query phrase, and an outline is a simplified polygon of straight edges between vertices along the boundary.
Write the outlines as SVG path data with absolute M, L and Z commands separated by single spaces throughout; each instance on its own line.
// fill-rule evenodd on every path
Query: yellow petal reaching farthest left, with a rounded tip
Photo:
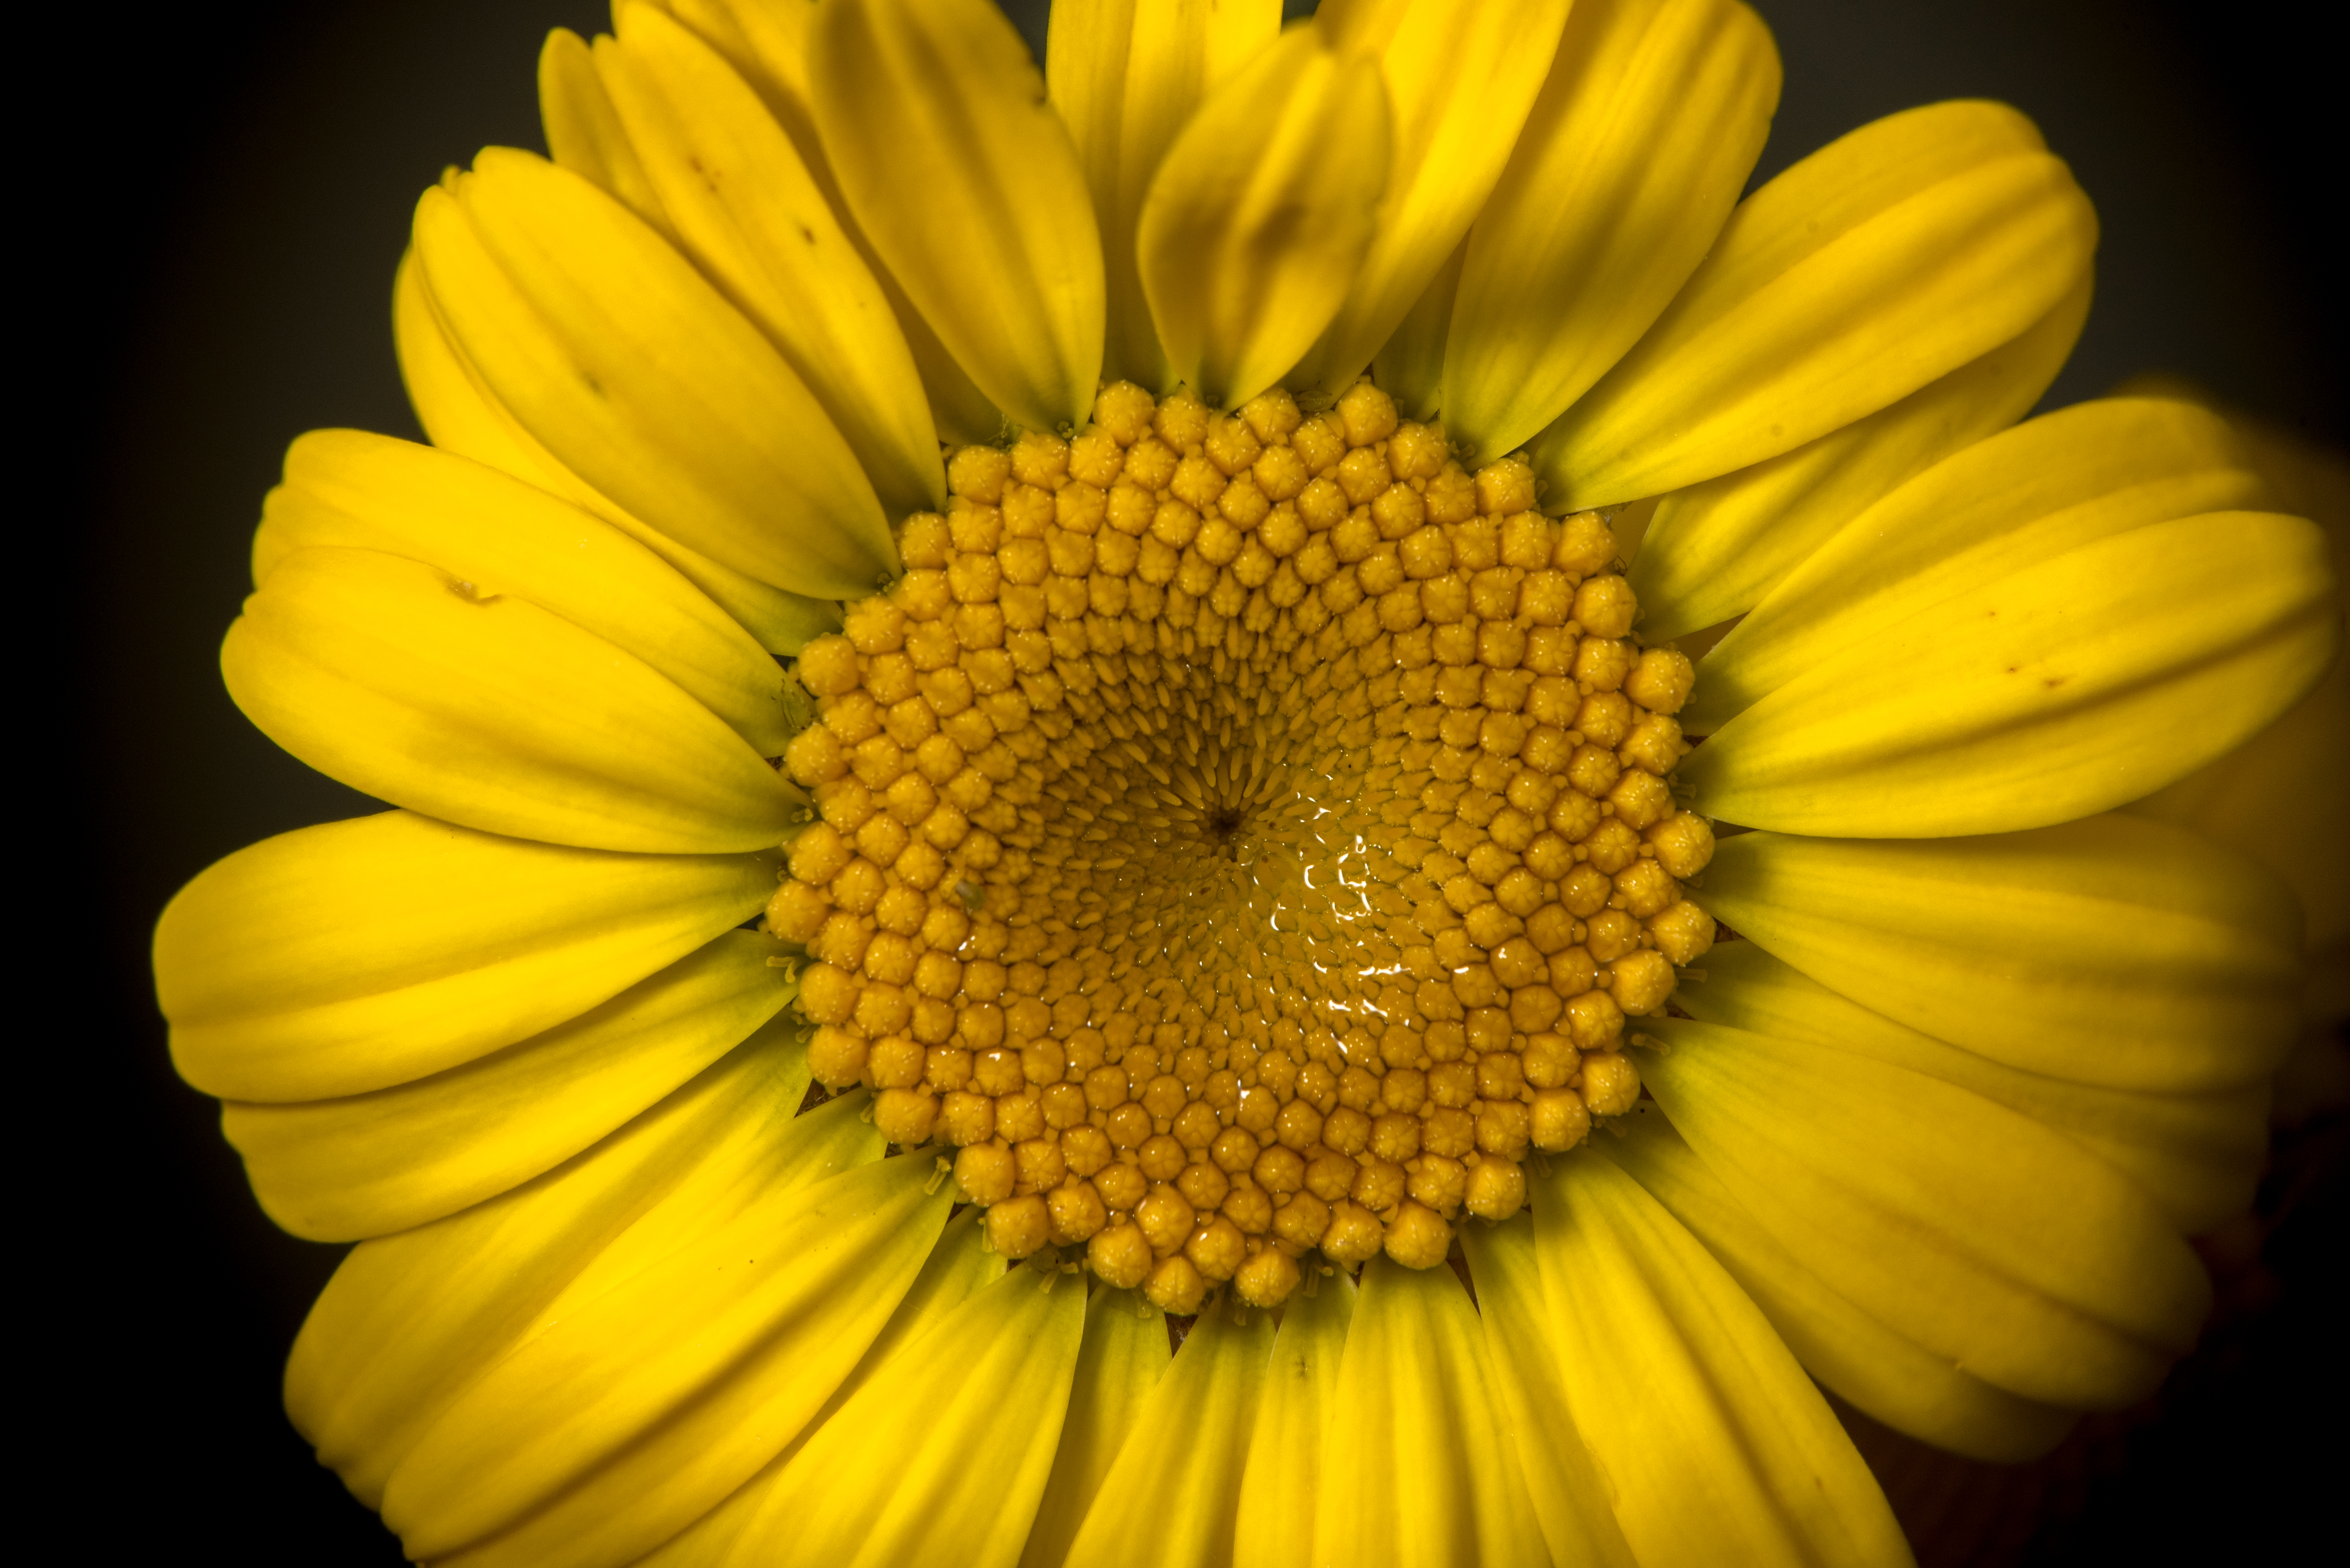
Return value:
M 776 861 L 562 850 L 409 812 L 280 833 L 209 866 L 155 925 L 172 1061 L 247 1101 L 425 1077 L 740 925 Z

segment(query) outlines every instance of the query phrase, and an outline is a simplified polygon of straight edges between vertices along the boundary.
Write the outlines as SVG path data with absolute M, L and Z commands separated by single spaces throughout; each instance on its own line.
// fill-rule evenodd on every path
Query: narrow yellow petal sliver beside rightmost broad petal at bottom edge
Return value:
M 1607 1479 L 1567 1415 L 1565 1373 L 1546 1329 L 1535 1216 L 1520 1211 L 1504 1225 L 1462 1225 L 1462 1251 L 1476 1282 L 1495 1399 L 1551 1561 L 1631 1568 Z

